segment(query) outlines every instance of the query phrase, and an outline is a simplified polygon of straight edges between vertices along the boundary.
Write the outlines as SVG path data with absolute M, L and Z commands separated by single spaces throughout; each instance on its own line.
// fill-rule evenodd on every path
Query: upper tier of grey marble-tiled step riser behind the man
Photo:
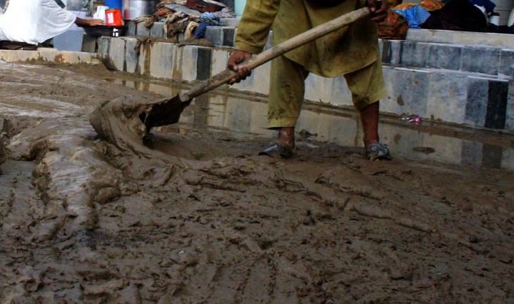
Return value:
M 235 20 L 238 21 L 238 19 Z M 233 22 L 233 24 L 236 24 L 236 22 Z M 439 33 L 439 31 L 435 32 Z M 421 33 L 425 32 L 421 31 Z M 163 24 L 156 22 L 151 28 L 146 28 L 143 23 L 129 25 L 128 36 L 163 38 L 165 34 Z M 235 26 L 208 26 L 205 34 L 205 38 L 212 41 L 216 47 L 233 47 L 235 36 Z M 479 36 L 483 37 L 485 34 L 480 33 Z M 447 33 L 445 37 L 455 38 L 455 35 Z M 176 38 L 181 41 L 183 35 L 178 34 Z M 458 44 L 458 42 L 444 44 L 410 40 L 379 39 L 379 44 L 383 64 L 413 68 L 448 69 L 514 79 L 514 43 L 510 45 L 509 49 L 465 45 Z

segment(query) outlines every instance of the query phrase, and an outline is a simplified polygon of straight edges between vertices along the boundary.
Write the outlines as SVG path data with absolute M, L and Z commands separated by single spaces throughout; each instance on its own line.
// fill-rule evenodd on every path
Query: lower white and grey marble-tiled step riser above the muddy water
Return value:
M 108 55 L 111 69 L 182 81 L 207 79 L 226 69 L 231 49 L 176 46 L 155 43 L 141 54 L 134 51 L 136 39 L 101 37 L 99 52 Z M 415 114 L 423 118 L 470 126 L 514 131 L 514 81 L 462 71 L 384 66 L 387 98 L 381 111 Z M 231 89 L 269 92 L 270 64 L 264 64 L 246 81 Z M 352 106 L 344 78 L 311 74 L 306 81 L 306 100 L 334 106 Z

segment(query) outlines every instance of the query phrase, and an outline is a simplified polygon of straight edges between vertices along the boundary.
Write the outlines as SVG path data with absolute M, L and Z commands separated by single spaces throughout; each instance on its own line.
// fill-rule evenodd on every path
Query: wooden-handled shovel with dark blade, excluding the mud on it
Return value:
M 303 46 L 304 44 L 308 44 L 322 36 L 331 34 L 333 31 L 342 29 L 355 21 L 363 19 L 369 14 L 370 11 L 367 7 L 344 14 L 343 16 L 339 16 L 325 24 L 316 26 L 303 34 L 294 36 L 281 44 L 273 46 L 273 48 L 263 51 L 261 54 L 241 63 L 239 66 L 246 66 L 248 69 L 253 70 L 256 67 L 271 61 L 271 59 L 286 54 L 288 51 L 296 49 L 299 46 Z M 144 121 L 148 130 L 154 126 L 166 126 L 176 123 L 180 119 L 183 109 L 191 103 L 193 98 L 228 83 L 228 81 L 231 81 L 231 79 L 236 77 L 236 75 L 236 72 L 226 69 L 220 74 L 198 83 L 186 93 L 170 98 L 168 101 L 163 103 L 156 103 L 151 109 L 149 109 L 150 111 L 147 111 L 145 115 L 141 117 L 141 119 Z

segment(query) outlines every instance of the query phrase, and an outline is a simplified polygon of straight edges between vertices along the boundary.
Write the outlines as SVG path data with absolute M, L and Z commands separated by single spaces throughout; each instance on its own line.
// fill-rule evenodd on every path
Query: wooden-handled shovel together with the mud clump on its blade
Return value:
M 370 11 L 367 7 L 344 14 L 303 34 L 283 41 L 281 44 L 253 56 L 252 59 L 239 66 L 246 66 L 251 70 L 255 69 L 257 66 L 271 61 L 271 59 L 308 44 L 321 36 L 342 29 L 369 15 Z M 228 83 L 235 76 L 236 72 L 226 69 L 220 74 L 198 83 L 186 93 L 173 98 L 141 101 L 123 96 L 112 101 L 106 101 L 91 113 L 89 121 L 101 138 L 122 150 L 129 149 L 137 153 L 147 153 L 149 149 L 143 146 L 143 137 L 151 128 L 177 123 L 182 111 L 191 103 L 193 98 Z

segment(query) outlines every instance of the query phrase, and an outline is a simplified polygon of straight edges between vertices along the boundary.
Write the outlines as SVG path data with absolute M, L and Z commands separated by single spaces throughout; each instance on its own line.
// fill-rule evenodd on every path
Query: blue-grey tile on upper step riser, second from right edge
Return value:
M 462 71 L 498 75 L 500 50 L 465 46 L 463 48 Z

